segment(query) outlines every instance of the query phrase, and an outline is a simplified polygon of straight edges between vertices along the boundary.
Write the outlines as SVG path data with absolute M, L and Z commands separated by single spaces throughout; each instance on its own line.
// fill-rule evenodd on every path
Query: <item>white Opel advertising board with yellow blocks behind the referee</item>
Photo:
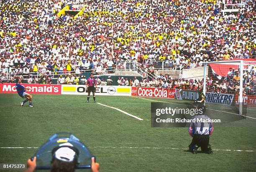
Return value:
M 61 94 L 87 95 L 85 85 L 61 85 Z M 97 86 L 95 95 L 131 96 L 130 86 Z

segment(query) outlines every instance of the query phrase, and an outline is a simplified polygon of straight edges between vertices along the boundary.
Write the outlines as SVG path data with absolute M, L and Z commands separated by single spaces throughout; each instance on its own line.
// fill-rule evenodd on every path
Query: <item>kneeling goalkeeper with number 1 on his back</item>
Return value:
M 213 125 L 210 118 L 205 115 L 205 106 L 198 108 L 199 113 L 192 118 L 189 125 L 189 134 L 193 137 L 189 144 L 189 150 L 197 154 L 197 149 L 201 147 L 202 152 L 212 154 L 212 148 L 209 144 L 210 135 L 213 132 Z

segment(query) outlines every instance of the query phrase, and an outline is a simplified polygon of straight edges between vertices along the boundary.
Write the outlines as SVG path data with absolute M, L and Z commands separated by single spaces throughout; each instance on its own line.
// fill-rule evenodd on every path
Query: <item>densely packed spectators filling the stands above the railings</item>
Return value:
M 255 56 L 252 0 L 236 15 L 224 16 L 221 0 L 87 0 L 75 19 L 57 17 L 64 3 L 1 0 L 2 75 L 108 73 L 117 61 L 134 61 L 149 71 L 158 60 L 173 61 L 170 68 L 194 68 Z M 47 83 L 52 75 L 41 77 Z

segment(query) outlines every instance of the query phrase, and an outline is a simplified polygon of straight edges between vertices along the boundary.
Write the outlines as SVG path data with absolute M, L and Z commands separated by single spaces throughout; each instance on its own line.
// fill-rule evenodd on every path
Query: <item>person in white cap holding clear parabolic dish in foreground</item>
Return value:
M 50 172 L 74 172 L 76 169 L 99 172 L 100 164 L 96 163 L 95 156 L 77 137 L 68 132 L 59 132 L 28 159 L 25 172 L 42 169 Z

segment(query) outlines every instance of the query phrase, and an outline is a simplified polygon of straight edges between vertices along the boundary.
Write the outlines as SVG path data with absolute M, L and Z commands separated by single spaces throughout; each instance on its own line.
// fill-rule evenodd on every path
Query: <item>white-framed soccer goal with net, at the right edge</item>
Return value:
M 241 117 L 256 119 L 255 72 L 254 59 L 204 63 L 206 109 L 217 116 L 226 116 L 227 121 L 240 120 Z

